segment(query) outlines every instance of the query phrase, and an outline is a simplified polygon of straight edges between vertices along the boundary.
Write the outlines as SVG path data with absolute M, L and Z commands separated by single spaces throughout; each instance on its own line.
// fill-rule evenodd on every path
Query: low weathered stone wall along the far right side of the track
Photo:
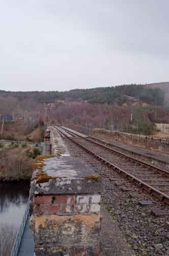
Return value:
M 112 139 L 120 142 L 169 152 L 169 138 L 155 138 L 153 136 L 113 132 L 104 129 L 94 129 L 94 136 L 97 136 L 97 134 L 106 134 L 111 136 Z

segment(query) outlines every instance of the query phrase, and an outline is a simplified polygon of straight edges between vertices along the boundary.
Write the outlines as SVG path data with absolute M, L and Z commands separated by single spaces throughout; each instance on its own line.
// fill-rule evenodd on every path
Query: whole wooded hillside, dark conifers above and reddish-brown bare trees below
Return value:
M 6 135 L 19 132 L 19 136 L 27 136 L 38 126 L 39 118 L 46 118 L 46 112 L 50 121 L 149 134 L 154 131 L 154 123 L 169 121 L 163 86 L 159 89 L 156 84 L 128 84 L 67 92 L 0 91 L 0 115 L 17 119 L 13 124 L 6 123 Z M 17 129 L 19 121 L 23 127 Z

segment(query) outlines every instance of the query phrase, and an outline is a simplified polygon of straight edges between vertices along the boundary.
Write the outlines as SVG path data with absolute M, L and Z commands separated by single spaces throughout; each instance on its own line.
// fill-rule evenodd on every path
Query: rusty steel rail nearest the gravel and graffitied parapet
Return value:
M 61 132 L 61 131 L 60 131 Z M 62 132 L 61 132 L 62 133 Z M 88 152 L 89 154 L 93 155 L 95 158 L 97 158 L 98 160 L 104 162 L 106 165 L 108 165 L 109 167 L 111 167 L 112 169 L 114 169 L 115 171 L 118 171 L 119 173 L 125 175 L 130 181 L 133 181 L 134 183 L 137 183 L 140 187 L 143 186 L 143 188 L 148 191 L 149 194 L 152 194 L 154 196 L 156 196 L 161 202 L 164 202 L 166 204 L 169 204 L 169 196 L 165 195 L 164 193 L 162 193 L 161 191 L 159 191 L 158 189 L 150 186 L 149 184 L 145 183 L 142 180 L 139 180 L 138 178 L 136 178 L 135 176 L 127 173 L 125 170 L 121 169 L 120 167 L 118 167 L 117 165 L 107 161 L 106 159 L 100 157 L 99 155 L 97 155 L 96 153 L 92 152 L 91 150 L 89 150 L 89 148 L 81 145 L 80 143 L 78 143 L 77 141 L 73 140 L 72 138 L 70 138 L 69 136 L 67 136 L 66 134 L 64 134 L 66 138 L 68 138 L 70 141 L 72 141 L 73 143 L 75 143 L 77 146 L 81 147 L 83 150 L 85 150 L 86 152 Z M 83 138 L 85 139 L 85 138 Z M 91 140 L 90 140 L 91 141 Z M 93 141 L 91 141 L 93 142 Z M 127 156 L 128 157 L 128 156 Z M 137 159 L 136 159 L 137 160 Z M 148 165 L 148 164 L 147 164 Z M 156 167 L 155 167 L 156 168 Z M 166 172 L 167 173 L 167 172 Z M 168 173 L 167 173 L 168 174 Z

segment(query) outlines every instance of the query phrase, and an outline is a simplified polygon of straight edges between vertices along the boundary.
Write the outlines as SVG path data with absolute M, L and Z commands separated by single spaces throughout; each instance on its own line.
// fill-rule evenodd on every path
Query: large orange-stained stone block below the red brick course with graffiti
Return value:
M 98 243 L 100 214 L 41 215 L 34 216 L 34 223 L 35 231 L 38 233 L 35 245 L 45 246 L 47 241 L 50 241 L 51 246 L 62 243 L 68 245 L 75 243 L 79 246 Z

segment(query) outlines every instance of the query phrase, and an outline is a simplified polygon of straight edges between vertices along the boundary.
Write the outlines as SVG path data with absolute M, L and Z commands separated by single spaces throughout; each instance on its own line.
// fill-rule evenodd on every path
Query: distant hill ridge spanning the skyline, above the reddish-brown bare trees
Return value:
M 14 111 L 15 117 L 23 117 L 27 113 L 29 113 L 29 116 L 37 117 L 40 110 L 44 113 L 47 104 L 52 103 L 56 106 L 62 103 L 68 104 L 68 102 L 88 102 L 91 104 L 108 104 L 114 106 L 142 106 L 146 104 L 162 106 L 164 104 L 164 93 L 166 94 L 165 90 L 169 88 L 168 84 L 128 84 L 116 87 L 75 89 L 66 92 L 0 91 L 0 115 L 12 115 Z

